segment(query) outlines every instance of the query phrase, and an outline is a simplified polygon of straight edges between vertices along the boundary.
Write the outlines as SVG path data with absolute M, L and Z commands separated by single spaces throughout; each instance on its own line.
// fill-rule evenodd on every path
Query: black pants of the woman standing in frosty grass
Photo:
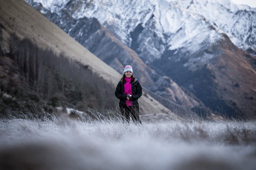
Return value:
M 119 108 L 120 108 L 120 111 L 121 111 L 123 123 L 129 123 L 130 122 L 130 115 L 131 115 L 132 121 L 135 124 L 141 124 L 142 125 L 142 123 L 140 121 L 140 117 L 139 117 L 139 114 L 140 114 L 139 107 L 120 106 Z

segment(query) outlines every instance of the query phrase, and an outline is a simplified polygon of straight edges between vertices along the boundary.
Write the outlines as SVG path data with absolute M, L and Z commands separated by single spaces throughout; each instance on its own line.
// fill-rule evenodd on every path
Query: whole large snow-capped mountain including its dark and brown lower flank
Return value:
M 51 13 L 47 17 L 70 35 L 84 17 L 96 18 L 148 66 L 190 90 L 206 106 L 220 104 L 224 112 L 256 114 L 255 8 L 229 0 L 26 1 L 34 7 L 34 2 L 41 3 L 41 13 Z M 85 37 L 82 29 L 71 36 Z M 161 79 L 154 81 L 165 82 Z M 237 84 L 240 89 L 234 88 Z

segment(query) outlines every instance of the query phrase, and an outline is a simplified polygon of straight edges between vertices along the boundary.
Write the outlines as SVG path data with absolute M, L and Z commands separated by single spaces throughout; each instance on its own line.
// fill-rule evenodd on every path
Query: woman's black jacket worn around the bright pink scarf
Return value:
M 130 101 L 132 101 L 132 106 L 139 107 L 138 99 L 142 96 L 142 87 L 137 79 L 131 83 L 132 85 L 132 96 Z M 120 80 L 116 86 L 115 96 L 120 99 L 119 106 L 126 106 L 126 96 L 124 95 L 124 83 Z

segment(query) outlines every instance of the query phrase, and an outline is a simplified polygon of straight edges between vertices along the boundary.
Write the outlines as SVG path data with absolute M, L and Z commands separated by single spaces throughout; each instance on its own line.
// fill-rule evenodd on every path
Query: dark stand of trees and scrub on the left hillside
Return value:
M 7 43 L 8 50 L 0 49 L 0 117 L 21 113 L 44 117 L 57 106 L 83 111 L 116 106 L 115 98 L 106 99 L 113 87 L 88 66 L 26 38 L 11 35 Z

